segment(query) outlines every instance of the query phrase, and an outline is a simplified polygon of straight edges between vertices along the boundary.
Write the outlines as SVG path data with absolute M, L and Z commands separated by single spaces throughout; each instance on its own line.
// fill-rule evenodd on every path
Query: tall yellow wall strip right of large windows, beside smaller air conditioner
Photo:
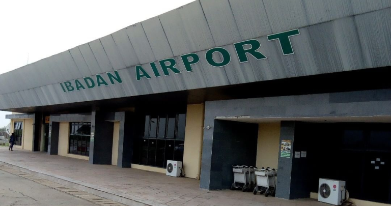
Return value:
M 187 178 L 200 179 L 204 104 L 187 105 L 183 168 Z

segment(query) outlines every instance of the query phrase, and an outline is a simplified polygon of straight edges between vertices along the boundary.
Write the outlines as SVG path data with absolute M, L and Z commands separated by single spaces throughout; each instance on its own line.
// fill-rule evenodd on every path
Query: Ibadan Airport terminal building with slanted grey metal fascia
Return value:
M 16 148 L 391 203 L 391 1 L 198 0 L 0 75 Z M 291 142 L 287 150 L 283 142 Z M 284 143 L 285 144 L 285 143 Z

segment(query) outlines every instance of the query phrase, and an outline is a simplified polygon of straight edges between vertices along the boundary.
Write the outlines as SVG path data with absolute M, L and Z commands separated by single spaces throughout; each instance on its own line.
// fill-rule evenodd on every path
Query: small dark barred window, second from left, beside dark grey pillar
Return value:
M 69 127 L 68 153 L 90 156 L 91 123 L 72 122 Z

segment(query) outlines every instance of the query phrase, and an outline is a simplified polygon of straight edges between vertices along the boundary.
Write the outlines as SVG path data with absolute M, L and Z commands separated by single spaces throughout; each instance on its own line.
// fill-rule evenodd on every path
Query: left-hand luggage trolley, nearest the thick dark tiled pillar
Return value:
M 231 190 L 242 189 L 243 192 L 249 187 L 249 167 L 244 165 L 232 165 L 234 172 L 234 183 L 231 185 Z

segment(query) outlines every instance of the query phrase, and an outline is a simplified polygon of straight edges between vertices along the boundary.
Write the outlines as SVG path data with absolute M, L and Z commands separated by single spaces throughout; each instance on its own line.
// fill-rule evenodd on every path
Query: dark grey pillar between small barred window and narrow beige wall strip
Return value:
M 92 112 L 90 164 L 111 164 L 113 129 L 113 122 L 105 121 L 105 112 Z

